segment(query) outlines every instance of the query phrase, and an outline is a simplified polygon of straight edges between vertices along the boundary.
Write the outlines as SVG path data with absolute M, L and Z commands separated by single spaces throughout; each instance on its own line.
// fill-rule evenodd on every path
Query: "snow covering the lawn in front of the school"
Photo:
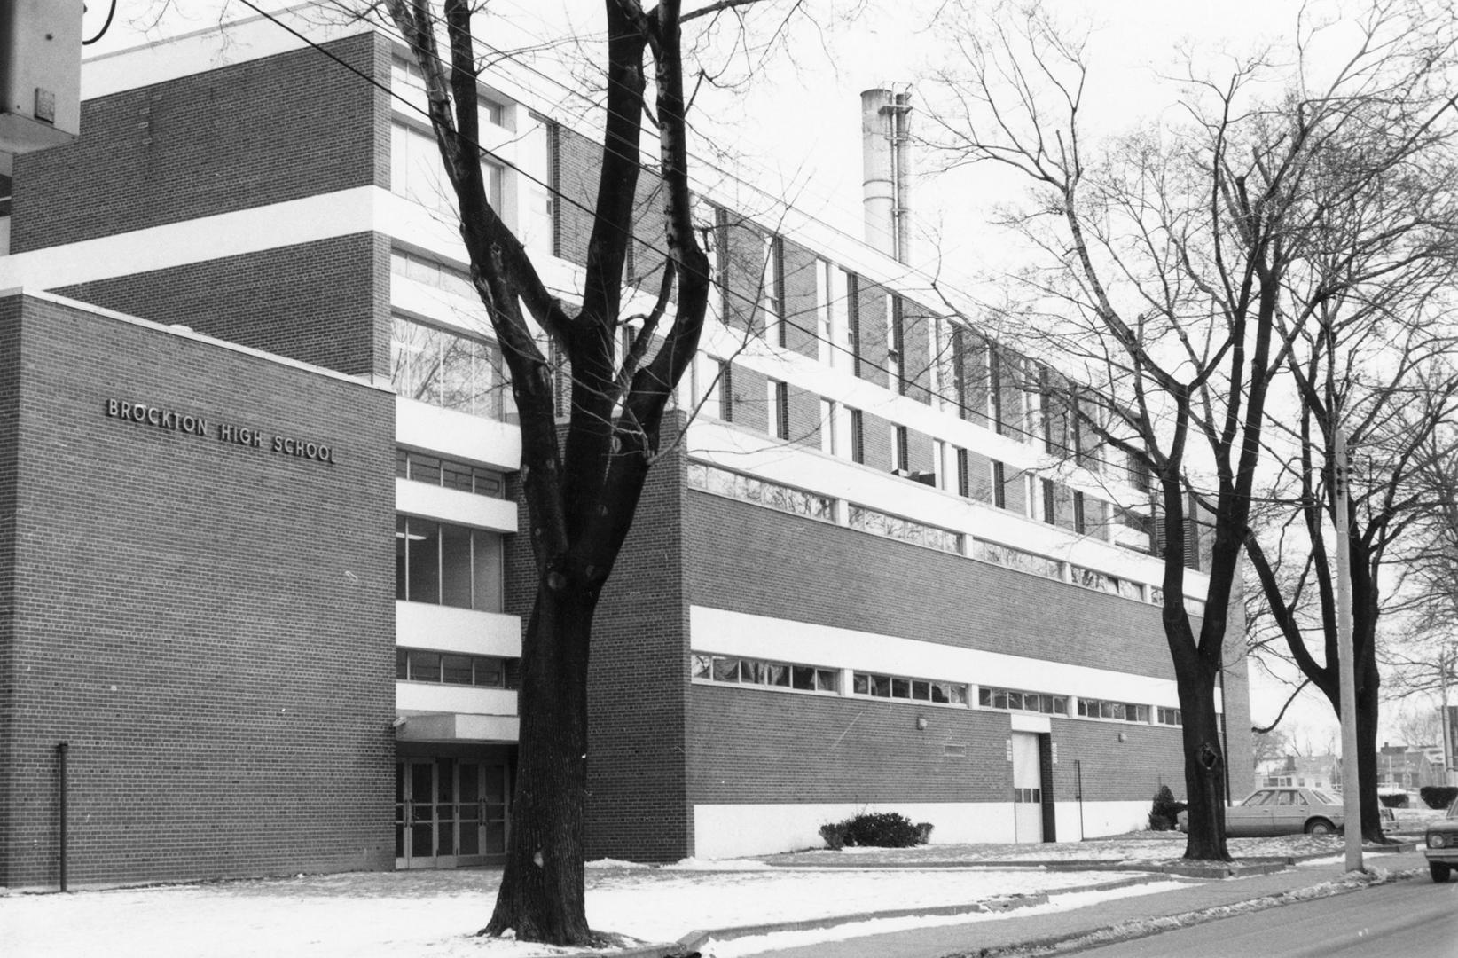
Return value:
M 1341 847 L 1338 838 L 1305 836 L 1231 841 L 1236 857 L 1340 854 Z M 1059 892 L 1127 878 L 1128 872 L 1048 871 L 1038 868 L 1038 862 L 1174 862 L 1182 853 L 1182 840 L 1134 834 L 1040 846 L 808 852 L 764 862 L 685 860 L 665 868 L 604 860 L 588 869 L 588 917 L 595 929 L 662 942 L 694 929 Z M 841 866 L 815 868 L 831 862 Z M 955 865 L 926 866 L 930 862 Z M 978 868 L 977 862 L 1025 866 Z M 885 868 L 889 863 L 903 866 Z M 494 869 L 458 869 L 311 875 L 70 895 L 0 894 L 0 952 L 6 958 L 525 958 L 570 954 L 472 936 L 490 916 L 499 881 L 500 872 Z M 1147 894 L 1161 887 L 1168 885 L 1089 894 Z M 1070 907 L 1066 903 L 1080 898 L 1064 894 L 1057 901 L 1064 904 L 1038 907 Z M 917 924 L 929 920 L 933 919 L 911 919 Z M 994 919 L 964 916 L 955 920 Z M 824 938 L 834 932 L 818 930 L 816 935 Z M 728 958 L 730 952 L 722 954 Z

